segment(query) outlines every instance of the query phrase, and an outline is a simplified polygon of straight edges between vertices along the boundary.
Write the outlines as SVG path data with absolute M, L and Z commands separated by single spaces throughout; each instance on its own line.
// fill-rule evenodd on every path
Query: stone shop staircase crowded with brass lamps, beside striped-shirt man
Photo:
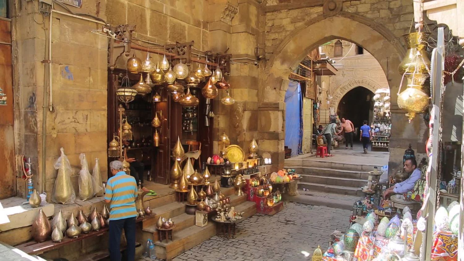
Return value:
M 246 201 L 246 195 L 237 196 L 234 187 L 221 188 L 221 191 L 226 197 L 231 198 L 230 204 L 236 211 L 245 212 L 243 218 L 256 214 L 256 203 Z M 156 257 L 170 260 L 220 232 L 219 225 L 211 220 L 216 216 L 215 212 L 209 214 L 206 226 L 199 227 L 195 225 L 195 216 L 185 213 L 185 203 L 176 202 L 175 197 L 172 196 L 159 200 L 162 202 L 158 201 L 158 206 L 153 209 L 153 213 L 156 213 L 155 218 L 150 218 L 142 224 L 142 242 L 147 242 L 147 239 L 155 242 Z M 175 223 L 172 241 L 166 242 L 164 239 L 162 242 L 159 241 L 156 221 L 160 216 L 166 219 L 172 218 Z

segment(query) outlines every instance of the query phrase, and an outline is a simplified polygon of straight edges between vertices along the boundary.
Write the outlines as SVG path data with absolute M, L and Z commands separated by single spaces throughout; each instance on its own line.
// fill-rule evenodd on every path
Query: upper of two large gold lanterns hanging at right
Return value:
M 430 37 L 430 32 L 410 32 L 403 35 L 406 40 L 407 51 L 401 61 L 398 71 L 404 73 L 428 74 L 430 59 L 425 47 Z

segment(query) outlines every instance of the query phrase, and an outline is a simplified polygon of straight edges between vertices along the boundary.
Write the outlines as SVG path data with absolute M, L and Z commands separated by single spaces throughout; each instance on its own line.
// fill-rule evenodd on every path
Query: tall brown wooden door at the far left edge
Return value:
M 11 22 L 0 19 L 0 199 L 16 195 Z

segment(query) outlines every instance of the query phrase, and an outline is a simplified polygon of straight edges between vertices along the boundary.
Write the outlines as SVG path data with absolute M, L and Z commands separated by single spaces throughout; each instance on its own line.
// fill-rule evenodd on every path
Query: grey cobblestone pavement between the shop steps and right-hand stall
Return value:
M 237 235 L 213 236 L 177 256 L 173 261 L 300 261 L 302 254 L 321 245 L 327 248 L 330 234 L 346 230 L 351 211 L 288 202 L 274 216 L 256 214 L 237 225 Z M 149 258 L 139 261 L 150 260 Z

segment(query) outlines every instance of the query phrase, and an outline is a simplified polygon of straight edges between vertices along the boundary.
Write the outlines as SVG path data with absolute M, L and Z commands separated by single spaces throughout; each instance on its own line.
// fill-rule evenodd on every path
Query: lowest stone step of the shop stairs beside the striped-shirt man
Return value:
M 243 196 L 240 196 L 243 197 Z M 235 207 L 236 211 L 245 212 L 243 218 L 248 218 L 256 213 L 256 203 L 243 202 Z M 156 257 L 171 260 L 190 248 L 195 247 L 215 236 L 218 233 L 219 226 L 212 220 L 208 221 L 205 227 L 190 226 L 173 233 L 173 240 L 166 242 L 163 240 L 155 241 Z

